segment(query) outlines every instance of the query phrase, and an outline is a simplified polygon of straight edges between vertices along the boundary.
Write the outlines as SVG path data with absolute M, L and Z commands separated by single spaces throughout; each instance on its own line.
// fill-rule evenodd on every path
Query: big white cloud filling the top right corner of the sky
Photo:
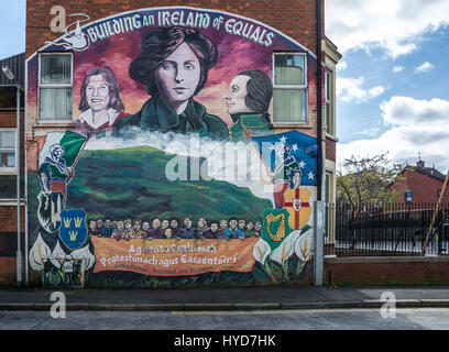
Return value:
M 344 53 L 381 47 L 392 57 L 417 48 L 421 36 L 449 24 L 447 0 L 326 1 L 326 33 Z

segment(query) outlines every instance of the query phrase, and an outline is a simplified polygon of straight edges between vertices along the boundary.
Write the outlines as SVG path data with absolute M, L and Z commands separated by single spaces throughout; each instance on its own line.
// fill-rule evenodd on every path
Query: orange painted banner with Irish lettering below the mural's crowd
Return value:
M 196 275 L 208 272 L 251 272 L 256 237 L 236 240 L 116 241 L 92 237 L 94 273 L 127 271 L 155 276 Z

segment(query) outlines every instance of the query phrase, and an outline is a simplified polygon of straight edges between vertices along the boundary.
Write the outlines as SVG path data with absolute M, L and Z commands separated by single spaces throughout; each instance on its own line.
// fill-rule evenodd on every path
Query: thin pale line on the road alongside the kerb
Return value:
M 197 310 L 197 311 L 180 311 L 174 310 L 174 316 L 251 316 L 251 315 L 294 315 L 294 314 L 331 314 L 331 312 L 379 312 L 380 308 L 331 308 L 331 309 L 285 309 L 285 310 Z M 412 314 L 412 312 L 431 312 L 431 311 L 449 311 L 449 308 L 428 308 L 428 307 L 413 307 L 413 308 L 396 308 L 396 314 Z

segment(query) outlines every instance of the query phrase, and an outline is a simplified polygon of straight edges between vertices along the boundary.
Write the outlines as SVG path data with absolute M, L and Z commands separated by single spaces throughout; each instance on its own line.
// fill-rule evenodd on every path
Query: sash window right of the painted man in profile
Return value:
M 307 122 L 306 55 L 276 53 L 273 64 L 273 122 Z

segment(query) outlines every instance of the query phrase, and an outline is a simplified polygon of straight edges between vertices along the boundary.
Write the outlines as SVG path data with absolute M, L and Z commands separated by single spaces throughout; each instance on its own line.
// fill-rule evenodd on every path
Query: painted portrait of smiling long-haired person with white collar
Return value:
M 83 112 L 76 127 L 94 131 L 108 130 L 124 116 L 120 87 L 109 67 L 94 67 L 86 73 L 79 110 Z

